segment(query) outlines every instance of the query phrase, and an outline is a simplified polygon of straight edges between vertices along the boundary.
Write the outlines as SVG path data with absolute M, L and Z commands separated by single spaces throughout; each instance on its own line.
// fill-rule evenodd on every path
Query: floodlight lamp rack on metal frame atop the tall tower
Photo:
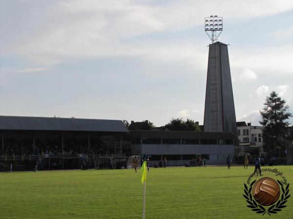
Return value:
M 205 32 L 209 36 L 211 43 L 214 43 L 219 38 L 223 31 L 223 17 L 211 15 L 205 18 Z

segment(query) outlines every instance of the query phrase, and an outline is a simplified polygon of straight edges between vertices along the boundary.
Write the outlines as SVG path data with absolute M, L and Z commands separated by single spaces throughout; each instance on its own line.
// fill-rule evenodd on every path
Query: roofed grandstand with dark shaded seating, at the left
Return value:
M 0 116 L 0 133 L 0 171 L 20 171 L 93 168 L 99 157 L 125 157 L 128 129 L 120 120 Z

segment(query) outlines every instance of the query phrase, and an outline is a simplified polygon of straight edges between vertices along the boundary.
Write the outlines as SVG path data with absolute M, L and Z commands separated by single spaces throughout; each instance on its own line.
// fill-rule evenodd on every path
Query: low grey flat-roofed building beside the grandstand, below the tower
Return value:
M 191 159 L 207 159 L 207 164 L 226 164 L 234 156 L 234 135 L 228 132 L 132 130 L 124 139 L 128 155 L 150 155 L 150 165 L 165 157 L 169 166 L 189 164 Z

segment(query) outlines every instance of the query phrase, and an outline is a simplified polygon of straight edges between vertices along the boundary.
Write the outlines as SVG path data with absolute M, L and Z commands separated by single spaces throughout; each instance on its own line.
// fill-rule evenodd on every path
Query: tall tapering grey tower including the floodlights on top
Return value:
M 234 133 L 234 145 L 238 145 L 228 45 L 217 41 L 222 30 L 222 17 L 205 18 L 205 31 L 211 44 L 209 44 L 204 131 Z

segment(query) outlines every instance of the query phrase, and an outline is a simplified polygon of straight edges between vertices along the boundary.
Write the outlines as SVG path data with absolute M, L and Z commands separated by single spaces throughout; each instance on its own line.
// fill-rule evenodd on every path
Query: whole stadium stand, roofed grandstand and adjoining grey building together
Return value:
M 121 120 L 0 116 L 0 172 L 127 168 L 129 156 L 148 154 L 150 165 L 167 157 L 168 165 L 194 158 L 225 164 L 234 155 L 228 132 L 128 130 Z

